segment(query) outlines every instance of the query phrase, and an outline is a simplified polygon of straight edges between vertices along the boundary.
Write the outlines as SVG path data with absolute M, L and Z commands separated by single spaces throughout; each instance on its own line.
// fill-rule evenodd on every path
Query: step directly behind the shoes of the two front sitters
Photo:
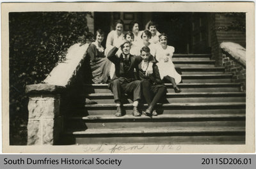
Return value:
M 205 111 L 209 114 L 220 113 L 244 113 L 245 102 L 230 102 L 230 103 L 167 103 L 163 105 L 157 104 L 156 111 L 158 114 L 202 114 Z M 85 108 L 76 107 L 73 114 L 83 115 L 113 115 L 116 113 L 116 104 L 97 104 L 84 105 Z M 125 104 L 125 114 L 132 114 L 132 104 Z M 145 110 L 147 104 L 141 107 Z

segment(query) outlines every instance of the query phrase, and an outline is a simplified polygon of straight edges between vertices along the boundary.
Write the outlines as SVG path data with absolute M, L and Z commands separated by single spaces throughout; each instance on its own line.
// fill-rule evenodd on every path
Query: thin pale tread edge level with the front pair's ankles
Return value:
M 229 102 L 229 103 L 164 103 L 159 104 L 162 107 L 218 107 L 218 106 L 245 106 L 245 102 Z M 144 104 L 147 106 L 147 104 Z M 96 104 L 96 105 L 84 105 L 84 107 L 116 107 L 116 104 Z M 124 104 L 124 107 L 132 107 L 132 104 Z

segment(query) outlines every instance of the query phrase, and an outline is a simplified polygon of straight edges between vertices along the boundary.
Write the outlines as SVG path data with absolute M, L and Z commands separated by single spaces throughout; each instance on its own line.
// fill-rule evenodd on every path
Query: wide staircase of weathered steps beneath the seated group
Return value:
M 244 144 L 246 94 L 210 57 L 173 55 L 173 63 L 182 71 L 183 83 L 178 84 L 182 92 L 175 93 L 172 84 L 165 84 L 166 103 L 157 105 L 159 115 L 152 118 L 133 117 L 129 98 L 126 114 L 115 117 L 108 85 L 85 84 L 89 98 L 98 104 L 74 106 L 65 122 L 63 143 Z

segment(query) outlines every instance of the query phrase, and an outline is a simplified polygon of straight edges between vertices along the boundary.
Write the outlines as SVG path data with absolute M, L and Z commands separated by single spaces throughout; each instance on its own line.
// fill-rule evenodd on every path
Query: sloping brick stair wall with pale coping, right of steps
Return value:
M 232 73 L 233 82 L 241 82 L 241 90 L 246 90 L 246 49 L 232 42 L 220 44 L 222 50 L 222 66 L 225 73 Z

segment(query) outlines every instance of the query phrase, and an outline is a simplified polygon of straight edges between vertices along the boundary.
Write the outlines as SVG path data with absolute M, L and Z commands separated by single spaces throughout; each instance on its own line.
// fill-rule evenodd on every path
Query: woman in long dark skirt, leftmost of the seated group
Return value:
M 86 61 L 90 62 L 90 73 L 94 84 L 106 84 L 108 82 L 111 62 L 104 55 L 104 48 L 101 43 L 104 40 L 104 33 L 101 29 L 96 31 L 93 41 L 86 51 Z

